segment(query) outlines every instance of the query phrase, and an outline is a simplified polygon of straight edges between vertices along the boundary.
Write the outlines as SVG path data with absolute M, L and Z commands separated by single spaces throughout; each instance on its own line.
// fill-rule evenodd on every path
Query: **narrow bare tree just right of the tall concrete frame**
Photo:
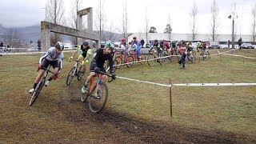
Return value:
M 102 34 L 103 34 L 104 29 L 105 29 L 105 23 L 106 23 L 103 4 L 104 4 L 104 0 L 99 0 L 98 14 L 96 16 L 97 17 L 97 19 L 96 19 L 97 22 L 95 22 L 95 24 L 96 24 L 95 28 L 96 28 L 97 33 L 100 36 L 101 40 L 102 40 Z

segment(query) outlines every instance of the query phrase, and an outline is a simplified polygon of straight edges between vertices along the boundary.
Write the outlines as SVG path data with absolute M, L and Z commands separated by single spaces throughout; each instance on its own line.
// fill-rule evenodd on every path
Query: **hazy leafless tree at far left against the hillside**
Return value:
M 3 42 L 6 44 L 6 46 L 10 47 L 21 47 L 22 46 L 22 41 L 20 39 L 20 33 L 18 32 L 17 29 L 14 28 L 9 28 L 6 30 L 6 32 L 2 36 Z

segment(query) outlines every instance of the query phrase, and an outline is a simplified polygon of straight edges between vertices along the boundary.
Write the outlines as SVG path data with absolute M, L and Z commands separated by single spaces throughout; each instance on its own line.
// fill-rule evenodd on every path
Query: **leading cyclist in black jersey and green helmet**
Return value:
M 108 60 L 110 62 L 110 74 L 112 78 L 115 79 L 115 74 L 113 73 L 113 56 L 111 55 L 112 50 L 114 50 L 114 44 L 112 42 L 107 42 L 103 49 L 96 50 L 96 54 L 90 63 L 90 74 L 86 78 L 86 82 L 82 86 L 82 93 L 87 93 L 87 85 L 91 81 L 91 78 L 94 77 L 95 74 L 99 74 L 100 71 L 105 72 L 104 62 Z M 105 74 L 102 75 L 102 82 L 107 81 L 107 76 Z

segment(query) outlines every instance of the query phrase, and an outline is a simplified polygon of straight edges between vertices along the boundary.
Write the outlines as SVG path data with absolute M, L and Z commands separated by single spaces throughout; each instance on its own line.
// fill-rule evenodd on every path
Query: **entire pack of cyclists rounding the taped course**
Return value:
M 180 41 L 180 42 L 168 42 L 168 41 L 158 41 L 157 39 L 154 42 L 150 43 L 150 45 L 146 45 L 146 47 L 150 47 L 150 52 L 153 51 L 157 55 L 159 54 L 167 54 L 167 55 L 178 55 L 182 54 L 181 61 L 179 62 L 182 64 L 182 68 L 185 68 L 185 58 L 187 55 L 192 54 L 193 47 L 191 42 Z M 198 53 L 204 55 L 204 51 L 206 50 L 207 44 L 206 42 L 198 42 L 197 43 L 197 50 Z M 133 38 L 132 42 L 126 42 L 126 38 L 121 39 L 121 44 L 118 48 L 122 48 L 122 53 L 129 55 L 130 48 L 134 48 L 136 51 L 136 55 L 138 60 L 141 59 L 141 52 L 142 44 L 138 41 L 136 37 Z M 45 72 L 45 69 L 51 65 L 54 68 L 54 74 L 46 81 L 45 86 L 49 86 L 50 81 L 52 79 L 58 78 L 58 75 L 61 73 L 62 70 L 62 62 L 64 60 L 64 54 L 62 50 L 64 46 L 62 42 L 57 42 L 54 47 L 50 47 L 49 50 L 46 51 L 46 54 L 42 56 L 39 60 L 38 70 L 40 70 L 38 76 L 35 78 L 34 86 L 29 91 L 30 93 L 34 93 L 35 87 L 38 85 L 38 82 L 42 78 L 42 75 Z M 78 55 L 76 61 L 80 62 L 83 65 L 83 71 L 86 70 L 86 63 L 90 62 L 90 74 L 86 78 L 86 82 L 82 86 L 82 93 L 87 93 L 87 85 L 90 80 L 94 77 L 94 75 L 99 74 L 101 71 L 106 73 L 106 69 L 104 67 L 105 61 L 109 61 L 110 66 L 110 74 L 112 78 L 115 79 L 114 74 L 114 51 L 115 49 L 114 43 L 111 41 L 107 41 L 106 45 L 102 49 L 98 49 L 95 51 L 94 57 L 92 54 L 92 49 L 90 47 L 89 42 L 82 42 L 82 45 L 78 46 L 78 49 L 71 54 L 69 61 L 71 62 L 74 59 L 74 54 L 81 50 L 81 54 Z M 44 68 L 44 69 L 43 69 Z M 105 74 L 102 75 L 102 82 L 107 81 L 107 76 Z

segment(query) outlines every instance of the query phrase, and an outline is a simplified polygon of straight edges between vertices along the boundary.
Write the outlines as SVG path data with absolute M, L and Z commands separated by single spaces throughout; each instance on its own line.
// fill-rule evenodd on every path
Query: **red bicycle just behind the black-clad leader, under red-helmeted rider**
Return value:
M 125 55 L 123 54 L 123 52 L 120 53 L 119 56 L 117 56 L 114 61 L 117 61 L 117 65 L 119 66 L 116 66 L 117 69 L 120 69 L 121 66 L 124 66 L 122 65 L 123 63 L 126 63 L 126 66 L 129 68 L 131 66 L 133 66 L 133 62 L 134 62 L 134 57 L 131 56 L 131 55 Z

